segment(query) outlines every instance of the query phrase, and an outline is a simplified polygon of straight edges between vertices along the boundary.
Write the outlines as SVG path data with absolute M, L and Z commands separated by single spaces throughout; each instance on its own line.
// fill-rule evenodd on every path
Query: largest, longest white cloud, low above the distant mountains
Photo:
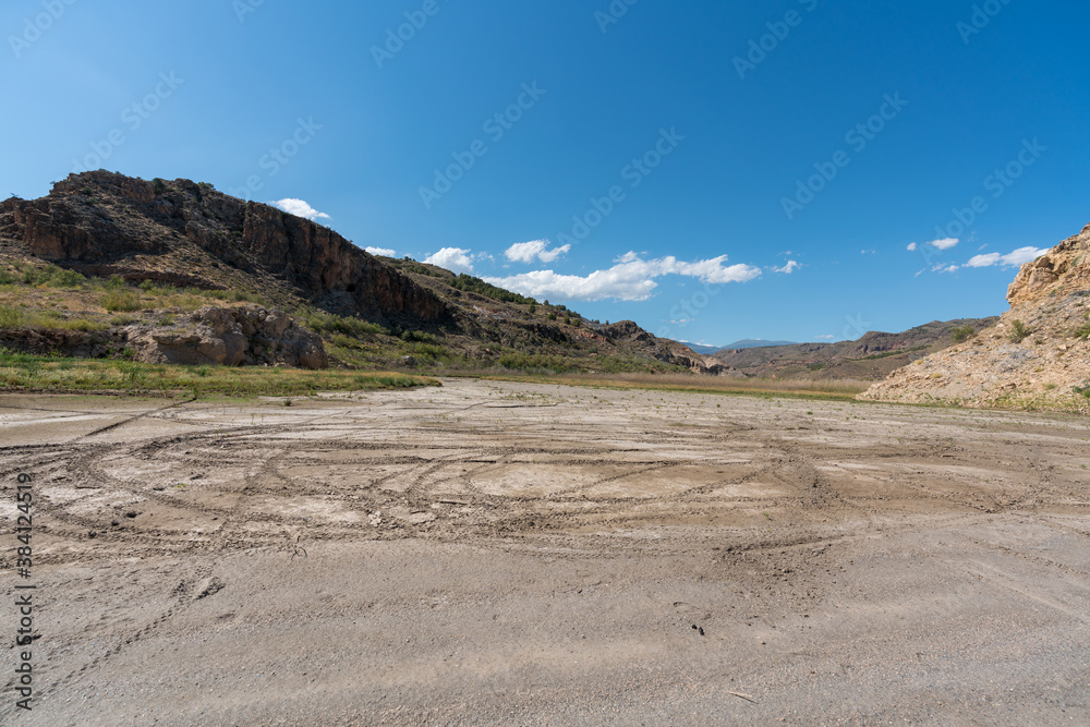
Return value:
M 629 252 L 616 260 L 616 265 L 590 275 L 560 275 L 554 270 L 533 270 L 507 278 L 485 278 L 494 286 L 531 295 L 560 300 L 601 301 L 618 299 L 622 301 L 644 301 L 651 298 L 658 283 L 655 278 L 678 275 L 697 278 L 705 283 L 746 282 L 761 275 L 761 269 L 752 265 L 729 265 L 726 255 L 706 260 L 687 263 L 668 256 L 644 260 L 634 252 Z

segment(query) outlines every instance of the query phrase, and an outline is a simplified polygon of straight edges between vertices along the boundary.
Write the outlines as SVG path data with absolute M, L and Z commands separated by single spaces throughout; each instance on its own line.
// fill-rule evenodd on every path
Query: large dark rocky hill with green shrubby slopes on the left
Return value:
M 223 310 L 242 304 L 258 305 Z M 194 317 L 209 306 L 220 310 Z M 477 278 L 376 257 L 209 184 L 95 171 L 0 203 L 0 346 L 184 360 L 189 340 L 213 363 L 324 361 L 302 334 L 239 342 L 238 330 L 283 311 L 322 336 L 334 365 L 727 373 L 635 324 L 595 325 Z

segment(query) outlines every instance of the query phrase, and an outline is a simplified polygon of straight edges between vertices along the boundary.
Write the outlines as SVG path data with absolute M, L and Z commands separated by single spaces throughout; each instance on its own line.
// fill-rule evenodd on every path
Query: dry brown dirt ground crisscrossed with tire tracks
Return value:
M 0 397 L 3 724 L 1090 723 L 1090 420 Z

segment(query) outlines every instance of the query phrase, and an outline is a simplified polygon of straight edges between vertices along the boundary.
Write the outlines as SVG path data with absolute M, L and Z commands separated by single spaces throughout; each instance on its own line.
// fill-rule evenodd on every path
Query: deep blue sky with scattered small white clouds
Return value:
M 1013 266 L 1090 222 L 1088 25 L 1026 0 L 9 0 L 0 193 L 189 178 L 671 338 L 856 338 L 998 314 Z

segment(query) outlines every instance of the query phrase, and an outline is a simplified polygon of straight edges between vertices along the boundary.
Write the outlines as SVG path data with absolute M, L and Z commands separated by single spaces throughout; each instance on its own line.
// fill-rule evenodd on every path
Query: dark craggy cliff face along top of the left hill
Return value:
M 431 291 L 332 230 L 187 180 L 72 174 L 40 199 L 0 204 L 0 237 L 94 275 L 229 288 L 226 264 L 339 313 L 440 322 Z

